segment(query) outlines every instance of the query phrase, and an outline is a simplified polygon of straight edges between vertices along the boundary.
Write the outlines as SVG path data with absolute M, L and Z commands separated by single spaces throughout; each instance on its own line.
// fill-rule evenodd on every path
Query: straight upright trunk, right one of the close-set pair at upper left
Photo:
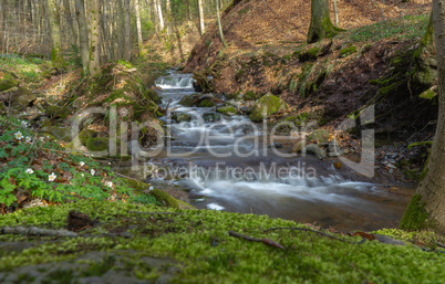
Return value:
M 90 73 L 92 76 L 101 74 L 101 0 L 92 0 L 89 17 L 90 29 Z

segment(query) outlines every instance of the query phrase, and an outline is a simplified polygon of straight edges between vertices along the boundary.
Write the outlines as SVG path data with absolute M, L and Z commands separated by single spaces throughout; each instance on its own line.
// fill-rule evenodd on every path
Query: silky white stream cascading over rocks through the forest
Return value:
M 192 120 L 163 118 L 170 139 L 151 162 L 168 165 L 170 173 L 184 178 L 174 182 L 190 190 L 193 206 L 339 230 L 395 227 L 402 217 L 410 194 L 394 193 L 394 186 L 372 183 L 348 167 L 337 169 L 332 159 L 283 157 L 289 149 L 271 147 L 261 125 L 252 125 L 248 116 L 204 122 L 203 115 L 215 108 L 180 106 L 183 96 L 196 93 L 190 75 L 172 72 L 157 86 L 162 106 L 189 114 Z

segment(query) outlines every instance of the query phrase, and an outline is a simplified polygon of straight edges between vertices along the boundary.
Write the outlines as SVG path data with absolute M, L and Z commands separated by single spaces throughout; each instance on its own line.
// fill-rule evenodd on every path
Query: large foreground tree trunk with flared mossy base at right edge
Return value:
M 437 128 L 423 180 L 403 215 L 401 228 L 432 228 L 445 235 L 445 0 L 433 1 L 433 23 L 438 65 Z

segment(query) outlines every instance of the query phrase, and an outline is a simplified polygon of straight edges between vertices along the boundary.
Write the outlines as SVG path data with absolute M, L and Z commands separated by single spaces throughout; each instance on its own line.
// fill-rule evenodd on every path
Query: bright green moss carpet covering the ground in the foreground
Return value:
M 84 264 L 83 256 L 92 253 L 101 261 L 86 262 L 87 267 L 82 267 L 83 271 L 91 271 L 93 275 L 121 272 L 133 277 L 131 283 L 154 281 L 163 273 L 169 274 L 173 283 L 439 283 L 445 277 L 443 253 L 376 241 L 344 243 L 313 232 L 263 232 L 276 227 L 303 228 L 266 215 L 83 200 L 20 210 L 4 215 L 0 227 L 63 229 L 70 210 L 99 218 L 100 224 L 76 239 L 0 236 L 0 277 L 7 277 L 20 267 L 31 266 L 32 271 L 32 267 L 39 267 L 32 265 L 49 263 L 56 266 L 61 262 L 70 264 L 64 271 L 73 278 L 81 277 L 76 265 Z M 273 240 L 284 250 L 229 236 L 230 230 Z M 399 231 L 381 233 L 395 232 Z M 360 241 L 358 238 L 339 238 Z M 22 249 L 19 243 L 23 244 Z M 151 262 L 144 257 L 149 257 Z M 154 259 L 164 264 L 163 269 L 154 269 Z M 172 275 L 166 272 L 168 267 L 176 267 L 177 272 Z

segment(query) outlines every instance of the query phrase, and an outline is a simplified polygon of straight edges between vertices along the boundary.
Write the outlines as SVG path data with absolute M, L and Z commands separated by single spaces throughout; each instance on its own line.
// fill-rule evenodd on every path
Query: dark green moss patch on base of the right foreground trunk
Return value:
M 400 228 L 407 231 L 418 231 L 428 228 L 428 213 L 421 194 L 415 194 L 403 214 Z

